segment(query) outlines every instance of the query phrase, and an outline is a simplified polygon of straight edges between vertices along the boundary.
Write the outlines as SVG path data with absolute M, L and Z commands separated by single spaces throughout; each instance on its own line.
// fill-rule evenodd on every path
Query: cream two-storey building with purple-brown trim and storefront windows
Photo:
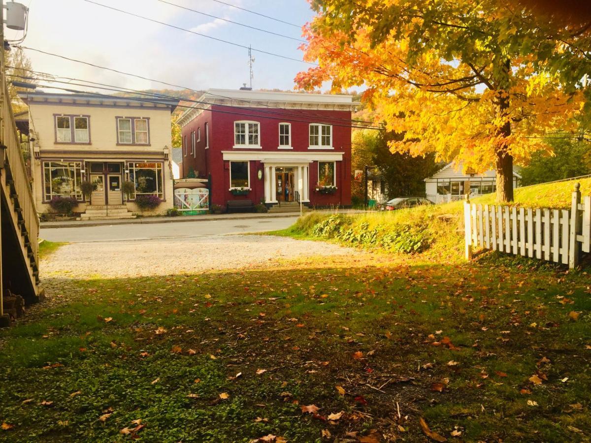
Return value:
M 31 170 L 37 209 L 52 198 L 73 197 L 83 219 L 131 217 L 139 196 L 173 207 L 171 112 L 178 100 L 93 94 L 23 92 L 29 108 Z M 81 184 L 93 185 L 90 198 Z M 132 184 L 129 196 L 124 183 Z M 145 213 L 145 211 L 144 211 Z

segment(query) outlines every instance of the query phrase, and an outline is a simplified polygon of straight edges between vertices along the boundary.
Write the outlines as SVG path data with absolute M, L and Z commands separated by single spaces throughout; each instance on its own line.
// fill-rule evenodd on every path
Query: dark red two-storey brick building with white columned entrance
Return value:
M 210 89 L 181 115 L 181 177 L 212 204 L 351 204 L 352 96 Z

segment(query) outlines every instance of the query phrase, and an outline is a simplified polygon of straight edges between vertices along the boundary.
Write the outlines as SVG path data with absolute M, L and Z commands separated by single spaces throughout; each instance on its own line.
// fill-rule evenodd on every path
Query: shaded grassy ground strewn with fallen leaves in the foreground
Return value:
M 590 279 L 531 266 L 53 279 L 0 331 L 0 440 L 588 441 Z

